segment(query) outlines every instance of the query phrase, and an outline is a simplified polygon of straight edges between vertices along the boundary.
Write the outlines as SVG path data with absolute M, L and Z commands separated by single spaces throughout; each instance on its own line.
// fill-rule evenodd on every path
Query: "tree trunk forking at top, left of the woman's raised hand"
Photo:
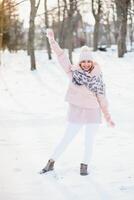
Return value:
M 31 10 L 30 10 L 30 21 L 29 21 L 29 33 L 28 33 L 28 55 L 30 55 L 31 70 L 36 69 L 35 52 L 34 52 L 34 38 L 35 38 L 35 17 L 40 4 L 38 0 L 30 0 Z

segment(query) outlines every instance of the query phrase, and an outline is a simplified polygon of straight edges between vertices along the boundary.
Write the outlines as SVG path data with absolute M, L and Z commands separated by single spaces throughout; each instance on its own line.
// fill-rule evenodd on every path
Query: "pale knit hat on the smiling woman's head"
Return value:
M 79 63 L 83 60 L 93 60 L 92 53 L 88 46 L 81 47 Z

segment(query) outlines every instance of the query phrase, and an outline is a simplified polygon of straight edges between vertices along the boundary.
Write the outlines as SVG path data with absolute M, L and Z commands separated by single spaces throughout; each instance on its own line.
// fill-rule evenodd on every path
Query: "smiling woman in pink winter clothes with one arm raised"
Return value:
M 70 80 L 66 94 L 69 111 L 65 134 L 40 173 L 54 169 L 55 161 L 84 126 L 85 150 L 83 161 L 80 164 L 80 175 L 88 175 L 94 139 L 101 123 L 101 112 L 104 114 L 108 125 L 115 126 L 108 111 L 102 72 L 99 65 L 94 62 L 91 51 L 87 46 L 81 48 L 78 65 L 73 66 L 63 49 L 55 41 L 51 29 L 47 30 L 47 37 L 52 50 L 57 55 L 59 63 Z

